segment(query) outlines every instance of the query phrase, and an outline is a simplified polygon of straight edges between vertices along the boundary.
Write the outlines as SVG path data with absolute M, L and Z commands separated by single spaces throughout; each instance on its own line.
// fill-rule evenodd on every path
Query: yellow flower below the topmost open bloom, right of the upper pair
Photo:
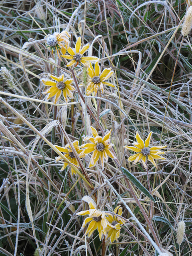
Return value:
M 96 95 L 98 88 L 100 88 L 101 93 L 103 94 L 103 92 L 104 92 L 103 85 L 115 87 L 111 83 L 104 82 L 105 80 L 110 78 L 110 76 L 112 76 L 112 74 L 114 73 L 111 70 L 111 68 L 105 68 L 103 70 L 103 72 L 100 74 L 100 66 L 99 66 L 98 62 L 95 63 L 95 69 L 93 69 L 93 66 L 90 63 L 90 67 L 88 68 L 88 73 L 89 73 L 89 76 L 91 79 L 90 79 L 88 87 L 87 87 L 87 95 L 90 95 L 93 91 Z

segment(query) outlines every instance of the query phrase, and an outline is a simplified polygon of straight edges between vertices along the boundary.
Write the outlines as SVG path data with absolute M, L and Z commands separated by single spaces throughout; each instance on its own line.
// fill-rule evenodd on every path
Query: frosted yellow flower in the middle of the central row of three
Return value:
M 83 151 L 83 154 L 89 154 L 93 152 L 88 168 L 95 166 L 99 158 L 101 158 L 102 168 L 104 168 L 104 158 L 106 161 L 108 160 L 108 156 L 110 158 L 115 158 L 114 154 L 110 151 L 110 148 L 113 146 L 113 144 L 110 143 L 109 139 L 111 130 L 106 133 L 105 136 L 102 138 L 98 135 L 98 132 L 95 128 L 93 128 L 92 126 L 90 126 L 90 128 L 92 130 L 94 138 L 89 136 L 85 137 L 84 141 L 90 140 L 91 143 L 83 144 L 80 147 L 86 148 Z

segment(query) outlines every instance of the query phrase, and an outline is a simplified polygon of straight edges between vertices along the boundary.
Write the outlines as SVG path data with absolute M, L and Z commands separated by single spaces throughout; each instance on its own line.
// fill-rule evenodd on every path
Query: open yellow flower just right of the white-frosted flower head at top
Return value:
M 70 55 L 62 55 L 63 58 L 67 60 L 71 60 L 66 66 L 77 66 L 78 64 L 86 65 L 88 61 L 99 60 L 97 57 L 83 57 L 83 54 L 88 50 L 89 44 L 86 44 L 81 49 L 81 37 L 77 38 L 77 42 L 75 45 L 75 52 L 71 47 L 68 47 L 67 51 Z

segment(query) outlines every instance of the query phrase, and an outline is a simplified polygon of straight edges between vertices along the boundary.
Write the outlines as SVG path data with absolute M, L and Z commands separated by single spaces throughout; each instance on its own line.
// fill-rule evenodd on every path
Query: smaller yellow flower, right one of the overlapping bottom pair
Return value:
M 114 210 L 114 213 L 117 214 L 118 210 L 118 215 L 122 215 L 122 208 L 120 206 L 117 206 Z M 107 238 L 110 238 L 111 243 L 114 240 L 118 240 L 120 236 L 120 225 L 124 224 L 124 221 L 122 218 L 117 217 L 116 215 L 109 215 L 106 216 L 106 219 L 108 221 L 108 224 L 105 228 L 105 231 L 108 232 Z

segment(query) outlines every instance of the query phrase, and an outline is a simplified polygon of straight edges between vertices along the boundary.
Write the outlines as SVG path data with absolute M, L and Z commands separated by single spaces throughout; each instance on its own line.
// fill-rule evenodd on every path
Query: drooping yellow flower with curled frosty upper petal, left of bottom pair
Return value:
M 82 224 L 82 228 L 85 227 L 85 225 L 89 223 L 89 226 L 85 232 L 85 235 L 88 234 L 88 237 L 91 236 L 91 234 L 94 232 L 94 230 L 98 230 L 99 233 L 99 239 L 101 241 L 102 234 L 106 235 L 105 228 L 107 226 L 107 220 L 106 220 L 106 214 L 105 212 L 102 212 L 100 210 L 96 209 L 95 202 L 89 198 L 90 200 L 87 200 L 89 196 L 84 196 L 82 200 L 88 202 L 89 204 L 89 210 L 78 212 L 77 215 L 86 215 L 89 214 L 89 216 L 84 220 Z

